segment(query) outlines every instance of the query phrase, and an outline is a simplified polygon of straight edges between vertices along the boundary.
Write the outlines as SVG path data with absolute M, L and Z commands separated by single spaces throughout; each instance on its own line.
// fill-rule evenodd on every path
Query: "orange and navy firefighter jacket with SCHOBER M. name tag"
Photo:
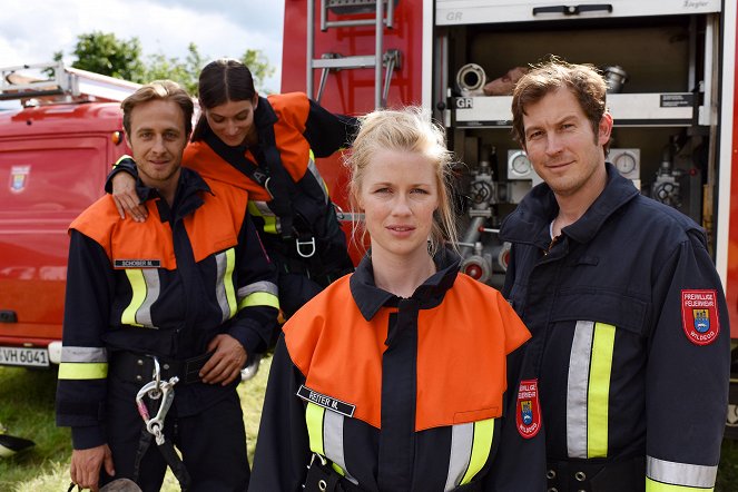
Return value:
M 70 226 L 57 423 L 72 427 L 76 449 L 106 442 L 117 351 L 181 361 L 226 333 L 250 356 L 276 329 L 276 272 L 245 213 L 246 194 L 186 168 L 171 208 L 152 188 L 138 193 L 145 223 L 121 220 L 106 195 Z M 177 384 L 171 412 L 197 414 L 235 384 Z

